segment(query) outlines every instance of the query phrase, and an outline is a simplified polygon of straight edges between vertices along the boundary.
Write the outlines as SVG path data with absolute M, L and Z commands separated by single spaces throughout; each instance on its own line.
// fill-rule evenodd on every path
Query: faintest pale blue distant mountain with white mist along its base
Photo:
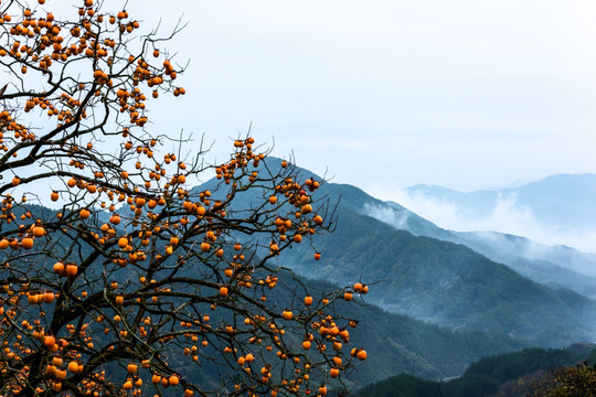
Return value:
M 562 173 L 518 186 L 468 193 L 417 184 L 406 207 L 453 230 L 493 229 L 596 251 L 596 174 Z

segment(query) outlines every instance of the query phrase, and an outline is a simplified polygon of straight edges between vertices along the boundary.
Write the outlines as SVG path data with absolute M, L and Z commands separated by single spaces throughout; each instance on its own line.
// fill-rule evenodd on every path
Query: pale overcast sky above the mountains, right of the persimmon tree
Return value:
M 163 34 L 185 24 L 162 51 L 188 64 L 188 94 L 151 107 L 149 129 L 192 135 L 189 150 L 203 138 L 207 161 L 251 129 L 274 155 L 394 201 L 417 183 L 473 191 L 596 172 L 592 0 L 127 8 L 147 26 L 161 19 Z

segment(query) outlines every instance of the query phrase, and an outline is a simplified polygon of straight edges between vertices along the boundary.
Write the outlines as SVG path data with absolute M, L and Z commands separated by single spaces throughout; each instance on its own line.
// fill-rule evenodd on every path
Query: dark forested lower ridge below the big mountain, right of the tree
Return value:
M 300 281 L 308 286 L 313 296 L 337 288 L 327 281 Z M 297 289 L 295 280 L 286 278 L 284 282 L 287 290 Z M 280 292 L 277 289 L 272 292 L 272 300 L 284 302 L 285 297 L 278 296 Z M 366 362 L 358 365 L 349 376 L 351 382 L 359 385 L 402 372 L 427 379 L 459 376 L 469 363 L 482 356 L 512 352 L 529 345 L 489 332 L 454 332 L 407 315 L 387 312 L 359 298 L 352 302 L 337 300 L 334 312 L 359 321 L 355 329 L 350 329 L 347 346 L 363 346 L 369 353 Z

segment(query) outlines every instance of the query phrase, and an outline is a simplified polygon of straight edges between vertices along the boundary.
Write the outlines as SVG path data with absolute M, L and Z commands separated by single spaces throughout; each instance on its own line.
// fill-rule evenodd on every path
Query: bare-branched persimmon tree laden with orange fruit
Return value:
M 333 301 L 366 286 L 311 296 L 276 262 L 332 228 L 322 181 L 251 137 L 205 164 L 152 133 L 146 105 L 185 93 L 167 49 L 177 29 L 141 33 L 108 2 L 50 3 L 0 1 L 0 395 L 341 385 L 366 352 Z

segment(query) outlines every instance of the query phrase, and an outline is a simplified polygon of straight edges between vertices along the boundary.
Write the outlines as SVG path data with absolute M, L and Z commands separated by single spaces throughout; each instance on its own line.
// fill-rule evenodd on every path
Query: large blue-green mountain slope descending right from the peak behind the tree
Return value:
M 275 161 L 262 167 L 275 172 Z M 320 180 L 307 170 L 297 172 Z M 596 304 L 582 294 L 536 283 L 461 244 L 396 229 L 371 216 L 370 208 L 387 206 L 358 187 L 323 183 L 321 196 L 334 214 L 334 233 L 312 240 L 322 259 L 312 258 L 305 240 L 279 257 L 280 266 L 339 285 L 362 280 L 371 285 L 370 302 L 460 332 L 489 332 L 539 346 L 595 340 Z M 254 198 L 247 193 L 243 200 Z M 408 224 L 435 237 L 448 233 L 417 217 Z

